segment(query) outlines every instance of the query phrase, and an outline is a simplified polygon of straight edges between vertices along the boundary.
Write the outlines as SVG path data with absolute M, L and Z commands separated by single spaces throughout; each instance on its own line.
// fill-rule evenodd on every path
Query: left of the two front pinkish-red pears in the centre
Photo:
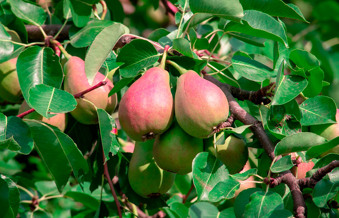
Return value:
M 154 139 L 166 131 L 174 118 L 168 72 L 148 69 L 122 96 L 118 115 L 122 128 L 135 141 Z

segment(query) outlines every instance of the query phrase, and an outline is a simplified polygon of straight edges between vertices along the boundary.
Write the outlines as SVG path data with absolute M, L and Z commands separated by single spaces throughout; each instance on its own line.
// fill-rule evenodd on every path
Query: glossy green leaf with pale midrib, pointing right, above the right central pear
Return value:
M 267 77 L 275 77 L 273 69 L 248 57 L 236 55 L 232 57 L 233 68 L 243 77 L 261 82 Z

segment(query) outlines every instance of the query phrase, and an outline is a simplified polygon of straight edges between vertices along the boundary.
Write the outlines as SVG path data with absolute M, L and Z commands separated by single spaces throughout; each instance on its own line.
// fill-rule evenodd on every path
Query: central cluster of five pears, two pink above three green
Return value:
M 166 193 L 174 173 L 192 172 L 192 161 L 204 147 L 215 154 L 213 139 L 207 138 L 228 113 L 224 93 L 196 72 L 179 77 L 173 100 L 169 73 L 161 67 L 148 69 L 122 96 L 118 111 L 122 128 L 136 141 L 128 169 L 132 189 L 144 197 Z M 237 173 L 246 164 L 248 150 L 243 140 L 231 136 L 217 145 L 217 155 Z

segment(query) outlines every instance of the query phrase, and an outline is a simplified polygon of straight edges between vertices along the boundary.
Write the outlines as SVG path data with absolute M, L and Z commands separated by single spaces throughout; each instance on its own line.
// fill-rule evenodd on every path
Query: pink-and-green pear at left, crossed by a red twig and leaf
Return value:
M 65 91 L 74 95 L 91 88 L 85 74 L 85 62 L 81 58 L 76 56 L 69 58 L 64 66 L 64 72 Z M 104 78 L 105 76 L 98 72 L 94 78 L 93 86 L 98 84 Z M 96 107 L 102 108 L 108 114 L 111 114 L 117 106 L 118 100 L 116 94 L 107 98 L 109 91 L 113 88 L 113 83 L 108 79 L 106 79 L 106 81 L 107 83 L 105 86 L 86 93 L 83 99 L 91 101 Z M 77 99 L 77 107 L 71 111 L 71 115 L 83 124 L 98 123 L 98 115 L 95 107 L 83 99 Z

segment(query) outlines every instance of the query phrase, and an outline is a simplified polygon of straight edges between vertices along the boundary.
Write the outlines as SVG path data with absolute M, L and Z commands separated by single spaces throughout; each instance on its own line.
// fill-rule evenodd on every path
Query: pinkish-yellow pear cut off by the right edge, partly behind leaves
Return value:
M 319 124 L 319 125 L 312 125 L 310 126 L 310 131 L 324 137 L 327 140 L 332 140 L 339 136 L 339 109 L 337 109 L 336 113 L 336 121 L 337 123 L 326 123 L 326 124 Z M 339 145 L 336 147 L 322 153 L 320 156 L 323 157 L 329 153 L 336 153 L 339 154 Z

